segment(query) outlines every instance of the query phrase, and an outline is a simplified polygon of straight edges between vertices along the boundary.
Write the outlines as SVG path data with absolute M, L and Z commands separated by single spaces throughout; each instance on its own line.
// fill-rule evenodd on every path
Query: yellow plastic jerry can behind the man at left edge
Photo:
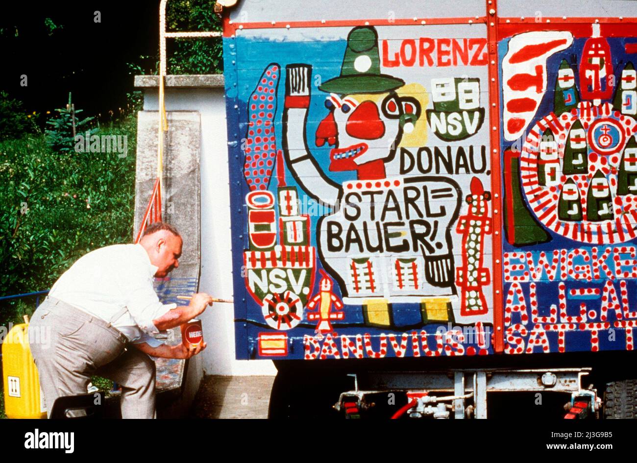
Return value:
M 38 369 L 29 349 L 29 317 L 13 325 L 2 343 L 4 412 L 8 418 L 47 418 Z

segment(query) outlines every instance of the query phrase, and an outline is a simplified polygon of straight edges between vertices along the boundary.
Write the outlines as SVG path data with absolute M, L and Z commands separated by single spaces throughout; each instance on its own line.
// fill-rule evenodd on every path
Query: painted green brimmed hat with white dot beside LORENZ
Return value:
M 378 34 L 369 26 L 354 27 L 347 36 L 341 75 L 320 85 L 324 92 L 338 94 L 383 93 L 396 90 L 404 80 L 380 73 Z

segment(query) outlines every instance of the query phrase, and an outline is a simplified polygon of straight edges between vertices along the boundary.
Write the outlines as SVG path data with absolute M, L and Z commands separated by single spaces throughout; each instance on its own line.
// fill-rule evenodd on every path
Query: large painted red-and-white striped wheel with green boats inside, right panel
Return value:
M 557 147 L 551 147 L 549 152 L 546 146 L 542 147 L 540 135 L 547 127 L 552 127 L 554 139 L 566 141 L 578 120 L 589 124 L 586 135 L 585 138 L 576 135 L 577 139 L 572 138 L 571 142 L 575 141 L 578 149 L 586 148 L 578 155 L 578 162 L 581 164 L 586 160 L 587 167 L 583 172 L 564 173 L 561 166 L 565 162 L 566 142 L 555 143 Z M 550 113 L 540 119 L 529 132 L 524 142 L 524 154 L 520 155 L 520 171 L 532 173 L 531 179 L 522 183 L 522 191 L 538 222 L 557 234 L 582 243 L 624 243 L 633 239 L 637 232 L 634 194 L 618 194 L 617 185 L 622 169 L 620 162 L 624 162 L 622 152 L 627 139 L 635 132 L 637 126 L 633 118 L 613 115 L 610 103 L 601 106 L 580 104 L 577 110 L 563 113 L 559 118 Z M 538 166 L 541 164 L 537 159 L 543 149 L 548 159 L 540 171 Z M 541 176 L 543 183 L 540 183 Z M 522 180 L 525 180 L 524 175 Z M 565 185 L 571 185 L 568 192 L 571 197 L 565 196 Z M 559 208 L 564 217 L 560 217 Z M 595 215 L 591 215 L 591 211 Z M 581 215 L 565 218 L 568 214 Z

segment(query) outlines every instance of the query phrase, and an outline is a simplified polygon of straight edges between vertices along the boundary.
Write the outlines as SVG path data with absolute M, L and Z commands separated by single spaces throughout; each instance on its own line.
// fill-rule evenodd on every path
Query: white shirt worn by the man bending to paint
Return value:
M 153 320 L 176 304 L 162 304 L 153 288 L 157 267 L 141 245 L 112 245 L 78 259 L 55 281 L 49 295 L 110 322 L 131 342 L 161 342 Z M 113 320 L 124 308 L 124 315 Z

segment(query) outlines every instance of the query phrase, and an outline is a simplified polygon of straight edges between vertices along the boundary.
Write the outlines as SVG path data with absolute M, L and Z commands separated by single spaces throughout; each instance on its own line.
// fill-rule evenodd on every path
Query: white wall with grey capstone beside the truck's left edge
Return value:
M 144 110 L 157 111 L 157 89 L 144 89 Z M 166 111 L 201 113 L 201 279 L 199 290 L 233 297 L 230 192 L 223 87 L 168 88 Z M 182 232 L 183 233 L 183 232 Z M 187 239 L 187 238 L 186 238 Z M 201 317 L 208 347 L 201 353 L 206 374 L 274 375 L 271 360 L 234 359 L 234 308 L 215 304 Z

